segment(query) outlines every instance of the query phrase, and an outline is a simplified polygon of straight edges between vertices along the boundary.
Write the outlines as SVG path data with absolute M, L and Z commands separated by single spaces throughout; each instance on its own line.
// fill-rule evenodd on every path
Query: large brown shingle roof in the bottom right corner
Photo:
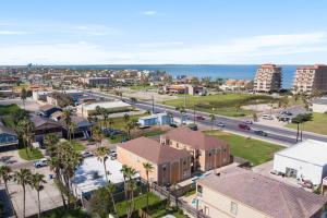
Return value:
M 210 174 L 198 184 L 274 218 L 308 218 L 327 202 L 326 197 L 241 168 Z

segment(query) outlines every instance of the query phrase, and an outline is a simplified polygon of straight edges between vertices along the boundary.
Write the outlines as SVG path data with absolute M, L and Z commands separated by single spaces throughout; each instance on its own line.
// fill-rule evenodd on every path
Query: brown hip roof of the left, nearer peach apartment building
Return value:
M 191 156 L 186 150 L 174 149 L 147 137 L 138 137 L 119 146 L 157 165 Z

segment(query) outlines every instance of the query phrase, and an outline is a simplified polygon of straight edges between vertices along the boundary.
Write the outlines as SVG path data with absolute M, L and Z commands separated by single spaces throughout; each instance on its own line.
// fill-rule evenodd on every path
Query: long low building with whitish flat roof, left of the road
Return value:
M 94 102 L 89 105 L 80 105 L 77 106 L 77 114 L 87 118 L 88 116 L 92 116 L 96 112 L 97 107 L 105 108 L 111 113 L 125 112 L 132 110 L 131 105 L 123 102 L 121 100 L 114 100 L 114 101 L 106 101 L 106 102 Z

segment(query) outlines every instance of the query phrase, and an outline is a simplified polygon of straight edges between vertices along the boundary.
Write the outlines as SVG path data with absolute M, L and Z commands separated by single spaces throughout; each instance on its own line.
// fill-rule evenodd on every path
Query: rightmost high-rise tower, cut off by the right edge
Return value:
M 315 64 L 296 69 L 293 93 L 327 92 L 327 65 Z

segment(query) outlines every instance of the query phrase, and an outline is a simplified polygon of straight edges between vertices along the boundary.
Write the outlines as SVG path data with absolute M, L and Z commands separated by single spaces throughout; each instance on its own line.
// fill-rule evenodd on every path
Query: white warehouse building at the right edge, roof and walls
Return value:
M 306 140 L 274 156 L 274 170 L 313 184 L 327 177 L 327 143 Z

